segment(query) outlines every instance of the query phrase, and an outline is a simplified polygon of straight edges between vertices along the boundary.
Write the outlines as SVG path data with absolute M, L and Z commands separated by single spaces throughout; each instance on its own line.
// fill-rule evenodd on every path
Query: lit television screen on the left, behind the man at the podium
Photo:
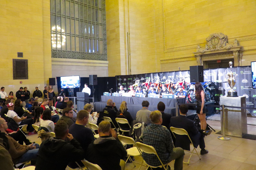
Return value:
M 60 77 L 60 86 L 61 88 L 79 88 L 79 75 Z

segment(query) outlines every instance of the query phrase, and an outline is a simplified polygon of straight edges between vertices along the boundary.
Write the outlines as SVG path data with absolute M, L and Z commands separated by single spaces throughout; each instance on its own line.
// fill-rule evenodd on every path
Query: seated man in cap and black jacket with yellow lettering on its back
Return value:
M 116 127 L 118 127 L 118 125 L 116 123 L 116 119 L 115 119 L 117 112 L 118 112 L 118 110 L 116 108 L 116 104 L 113 102 L 113 100 L 109 99 L 107 101 L 106 107 L 103 109 L 103 116 L 110 117 Z M 112 127 L 112 128 L 114 128 L 114 127 Z

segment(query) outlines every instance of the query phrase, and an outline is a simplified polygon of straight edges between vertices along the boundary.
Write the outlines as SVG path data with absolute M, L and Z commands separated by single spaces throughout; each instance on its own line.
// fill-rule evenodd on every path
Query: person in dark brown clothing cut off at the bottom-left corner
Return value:
M 4 141 L 4 139 L 5 141 Z M 12 162 L 12 158 L 11 155 L 8 152 L 9 149 L 9 145 L 8 145 L 8 139 L 5 136 L 4 133 L 0 133 L 0 165 L 1 165 L 1 169 L 3 170 L 13 170 L 13 162 Z

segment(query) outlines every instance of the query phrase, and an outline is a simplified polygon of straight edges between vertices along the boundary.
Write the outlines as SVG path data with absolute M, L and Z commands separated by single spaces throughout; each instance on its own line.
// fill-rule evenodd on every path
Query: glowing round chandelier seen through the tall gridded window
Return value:
M 58 25 L 57 27 L 52 27 L 52 46 L 54 48 L 61 48 L 61 46 L 65 45 L 66 42 L 66 35 L 61 35 L 61 34 L 57 34 L 56 32 L 61 32 L 64 33 L 65 31 L 63 29 L 61 29 Z M 62 40 L 61 40 L 62 37 Z

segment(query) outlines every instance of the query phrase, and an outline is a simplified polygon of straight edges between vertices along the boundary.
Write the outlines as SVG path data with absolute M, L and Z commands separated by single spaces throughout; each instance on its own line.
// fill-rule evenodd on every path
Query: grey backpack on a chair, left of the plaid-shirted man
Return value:
M 132 137 L 135 142 L 142 142 L 141 137 L 143 135 L 146 124 L 138 120 L 133 120 L 131 129 L 129 131 L 129 136 Z

